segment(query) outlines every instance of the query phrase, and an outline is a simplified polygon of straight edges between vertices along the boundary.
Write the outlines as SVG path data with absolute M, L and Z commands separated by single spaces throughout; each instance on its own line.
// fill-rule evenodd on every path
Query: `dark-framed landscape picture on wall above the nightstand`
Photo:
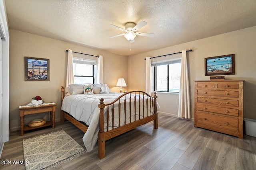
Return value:
M 25 81 L 50 81 L 50 60 L 25 57 Z

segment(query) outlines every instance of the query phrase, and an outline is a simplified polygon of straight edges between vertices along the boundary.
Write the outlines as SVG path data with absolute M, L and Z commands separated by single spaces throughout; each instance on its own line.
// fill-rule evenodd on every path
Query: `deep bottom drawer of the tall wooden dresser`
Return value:
M 220 115 L 212 115 L 203 112 L 197 112 L 197 123 L 206 126 L 221 128 L 225 130 L 238 132 L 238 119 Z

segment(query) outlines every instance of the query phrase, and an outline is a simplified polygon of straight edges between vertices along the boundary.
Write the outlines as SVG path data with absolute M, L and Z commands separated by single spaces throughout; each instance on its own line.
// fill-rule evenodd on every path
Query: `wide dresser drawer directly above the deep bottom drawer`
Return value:
M 202 103 L 198 103 L 197 106 L 198 110 L 202 110 L 202 111 L 210 111 L 210 112 L 214 112 L 214 113 L 221 113 L 224 115 L 233 115 L 233 116 L 238 116 L 239 114 L 239 110 L 238 109 L 230 109 L 230 108 L 225 108 L 225 107 L 216 107 L 216 106 L 210 106 L 207 104 L 202 104 Z

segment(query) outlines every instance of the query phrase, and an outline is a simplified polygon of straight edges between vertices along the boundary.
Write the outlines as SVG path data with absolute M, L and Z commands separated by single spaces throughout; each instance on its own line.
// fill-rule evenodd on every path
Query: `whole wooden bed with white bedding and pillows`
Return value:
M 92 84 L 96 85 L 99 84 Z M 160 107 L 156 102 L 156 93 L 154 96 L 142 91 L 114 93 L 109 89 L 102 93 L 104 84 L 100 86 L 101 90 L 96 94 L 96 90 L 88 94 L 88 91 L 92 92 L 88 90 L 88 85 L 83 85 L 82 94 L 76 89 L 73 93 L 66 92 L 68 89 L 62 86 L 61 122 L 67 119 L 85 133 L 83 141 L 88 152 L 98 142 L 98 157 L 102 159 L 107 140 L 150 121 L 154 121 L 154 129 L 157 129 Z

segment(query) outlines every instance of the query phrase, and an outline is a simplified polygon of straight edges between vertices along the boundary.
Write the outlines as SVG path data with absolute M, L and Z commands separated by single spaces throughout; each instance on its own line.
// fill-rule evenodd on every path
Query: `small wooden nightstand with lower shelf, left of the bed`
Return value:
M 24 134 L 24 131 L 37 129 L 40 127 L 52 126 L 55 127 L 55 103 L 45 103 L 40 106 L 20 106 L 20 135 Z M 24 115 L 31 115 L 36 113 L 50 112 L 50 121 L 46 121 L 46 124 L 38 127 L 24 126 Z

